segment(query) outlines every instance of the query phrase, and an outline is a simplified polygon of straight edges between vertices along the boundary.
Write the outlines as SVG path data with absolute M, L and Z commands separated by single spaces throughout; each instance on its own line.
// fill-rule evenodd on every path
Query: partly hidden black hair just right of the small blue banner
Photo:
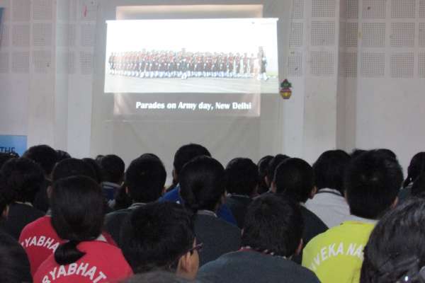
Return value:
M 29 158 L 40 164 L 45 175 L 50 175 L 50 173 L 52 173 L 53 167 L 55 167 L 57 162 L 57 152 L 46 144 L 31 146 L 23 154 L 23 157 Z

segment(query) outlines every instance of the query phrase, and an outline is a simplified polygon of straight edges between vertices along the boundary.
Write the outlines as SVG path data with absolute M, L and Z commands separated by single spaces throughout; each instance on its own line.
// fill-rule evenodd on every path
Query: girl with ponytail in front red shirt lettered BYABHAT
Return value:
M 103 283 L 132 275 L 121 250 L 101 234 L 103 195 L 93 179 L 73 176 L 57 180 L 51 203 L 52 226 L 67 241 L 40 265 L 35 283 Z

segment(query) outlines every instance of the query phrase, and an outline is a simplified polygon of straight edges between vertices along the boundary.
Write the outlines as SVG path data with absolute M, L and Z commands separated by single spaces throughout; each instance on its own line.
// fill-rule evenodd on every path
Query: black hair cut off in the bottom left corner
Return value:
M 1 283 L 33 282 L 25 250 L 6 233 L 0 233 L 0 255 Z

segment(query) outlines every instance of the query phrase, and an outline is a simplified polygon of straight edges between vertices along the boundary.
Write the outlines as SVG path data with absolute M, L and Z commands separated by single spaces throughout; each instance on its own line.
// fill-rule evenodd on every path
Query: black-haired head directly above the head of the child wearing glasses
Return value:
M 144 154 L 130 163 L 125 172 L 125 185 L 133 202 L 155 202 L 162 196 L 166 171 L 162 161 Z

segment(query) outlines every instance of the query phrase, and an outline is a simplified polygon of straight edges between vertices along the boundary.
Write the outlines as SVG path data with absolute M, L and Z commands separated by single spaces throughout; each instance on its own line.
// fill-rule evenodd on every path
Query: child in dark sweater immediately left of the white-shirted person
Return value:
M 300 204 L 304 230 L 302 241 L 306 245 L 314 236 L 327 231 L 326 224 L 305 208 L 305 202 L 314 197 L 314 172 L 312 166 L 300 158 L 287 158 L 276 168 L 273 192 Z M 299 260 L 299 259 L 297 259 Z

